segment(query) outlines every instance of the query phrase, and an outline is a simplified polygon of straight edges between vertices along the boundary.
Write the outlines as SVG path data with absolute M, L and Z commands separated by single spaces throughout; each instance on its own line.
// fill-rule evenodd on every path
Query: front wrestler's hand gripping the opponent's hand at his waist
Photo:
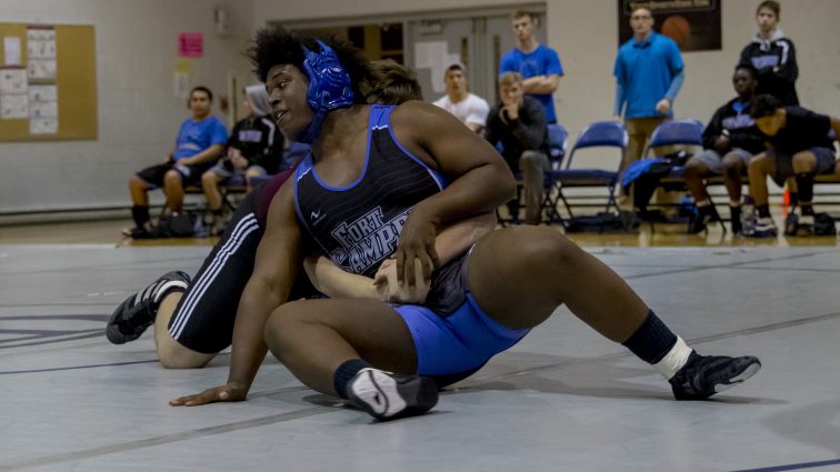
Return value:
M 423 280 L 431 279 L 432 271 L 438 267 L 438 251 L 434 249 L 437 234 L 434 223 L 420 214 L 418 208 L 414 207 L 402 227 L 397 242 L 397 252 L 393 254 L 397 260 L 399 287 L 418 284 L 419 281 L 414 277 L 418 273 L 414 269 L 417 263 L 422 268 Z

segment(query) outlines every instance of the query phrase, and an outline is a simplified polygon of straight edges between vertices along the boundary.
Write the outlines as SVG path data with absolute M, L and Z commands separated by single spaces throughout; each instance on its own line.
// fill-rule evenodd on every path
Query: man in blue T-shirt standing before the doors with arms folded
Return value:
M 552 93 L 560 83 L 563 67 L 560 64 L 557 51 L 537 41 L 536 29 L 537 23 L 531 13 L 527 11 L 513 13 L 517 47 L 501 57 L 499 74 L 519 72 L 524 78 L 522 84 L 526 93 L 542 103 L 549 123 L 557 123 Z

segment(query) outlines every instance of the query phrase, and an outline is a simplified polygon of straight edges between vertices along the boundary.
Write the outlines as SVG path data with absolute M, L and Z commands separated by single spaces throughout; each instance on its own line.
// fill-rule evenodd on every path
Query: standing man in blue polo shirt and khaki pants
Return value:
M 677 43 L 653 31 L 653 14 L 637 8 L 630 14 L 633 37 L 621 44 L 616 58 L 614 117 L 624 116 L 630 134 L 622 171 L 641 158 L 653 130 L 670 119 L 671 107 L 684 80 Z

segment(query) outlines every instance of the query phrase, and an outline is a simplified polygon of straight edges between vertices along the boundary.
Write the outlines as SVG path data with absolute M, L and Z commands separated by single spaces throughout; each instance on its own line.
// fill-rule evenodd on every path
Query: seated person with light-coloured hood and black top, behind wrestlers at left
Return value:
M 233 127 L 228 140 L 228 155 L 201 175 L 207 205 L 213 215 L 212 234 L 224 230 L 227 213 L 219 184 L 231 178 L 243 178 L 251 191 L 251 178 L 274 174 L 283 160 L 283 135 L 271 118 L 271 107 L 263 84 L 244 89 L 247 117 Z

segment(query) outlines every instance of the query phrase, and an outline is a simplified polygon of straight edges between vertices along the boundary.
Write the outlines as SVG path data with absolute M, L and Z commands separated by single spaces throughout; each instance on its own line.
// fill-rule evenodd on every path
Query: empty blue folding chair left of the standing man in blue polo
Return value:
M 618 211 L 618 203 L 616 202 L 616 185 L 619 181 L 619 169 L 621 168 L 621 162 L 627 152 L 627 130 L 622 123 L 617 121 L 597 121 L 589 124 L 580 132 L 574 145 L 569 152 L 566 167 L 550 172 L 552 191 L 549 192 L 549 204 L 551 205 L 554 218 L 564 222 L 560 213 L 557 211 L 558 203 L 562 202 L 569 214 L 569 219 L 574 219 L 571 204 L 569 204 L 569 200 L 563 193 L 564 190 L 570 188 L 604 188 L 608 191 L 604 213 L 608 213 L 611 208 Z M 591 148 L 616 148 L 621 152 L 614 167 L 579 168 L 577 164 L 573 167 L 576 163 L 576 153 L 582 149 Z

